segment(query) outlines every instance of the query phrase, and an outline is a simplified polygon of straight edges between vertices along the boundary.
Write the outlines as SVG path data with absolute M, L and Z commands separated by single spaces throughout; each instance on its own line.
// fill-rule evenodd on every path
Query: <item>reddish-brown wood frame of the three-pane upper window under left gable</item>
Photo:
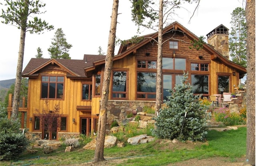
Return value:
M 49 93 L 47 95 L 47 98 L 42 98 L 42 77 L 43 76 L 48 76 L 49 77 L 49 81 L 48 81 L 48 86 L 49 86 L 49 83 L 50 83 L 50 77 L 63 77 L 63 97 L 62 98 L 57 98 L 57 88 L 56 88 L 56 91 L 55 91 L 55 98 L 49 98 Z M 41 74 L 41 78 L 40 78 L 40 82 L 41 82 L 41 87 L 40 87 L 40 99 L 47 99 L 47 100 L 64 100 L 64 96 L 65 96 L 65 80 L 66 80 L 66 76 L 64 74 Z M 56 79 L 56 82 L 55 84 L 57 84 L 58 82 L 58 78 Z M 49 88 L 49 87 L 48 87 Z M 49 89 L 48 89 L 48 92 L 49 92 Z

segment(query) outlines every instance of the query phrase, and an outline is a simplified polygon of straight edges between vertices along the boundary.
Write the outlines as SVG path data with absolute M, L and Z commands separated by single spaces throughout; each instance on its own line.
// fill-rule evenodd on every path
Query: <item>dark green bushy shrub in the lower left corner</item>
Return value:
M 2 108 L 1 108 L 2 109 Z M 0 160 L 14 160 L 24 152 L 29 145 L 25 135 L 22 135 L 20 122 L 7 117 L 0 118 Z

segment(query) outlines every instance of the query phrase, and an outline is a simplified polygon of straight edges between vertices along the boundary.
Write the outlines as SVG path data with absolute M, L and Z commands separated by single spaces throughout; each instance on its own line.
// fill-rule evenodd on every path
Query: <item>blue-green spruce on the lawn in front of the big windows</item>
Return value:
M 187 81 L 188 73 L 180 84 L 169 90 L 167 108 L 162 109 L 156 120 L 154 133 L 163 139 L 203 140 L 206 132 L 207 107 L 198 100 L 201 95 L 194 96 L 192 86 Z

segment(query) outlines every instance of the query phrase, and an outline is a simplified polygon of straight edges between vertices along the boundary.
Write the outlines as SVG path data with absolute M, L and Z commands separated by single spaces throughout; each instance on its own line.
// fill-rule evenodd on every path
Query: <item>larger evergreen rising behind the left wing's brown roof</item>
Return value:
M 72 47 L 72 45 L 67 43 L 62 28 L 58 28 L 56 30 L 54 38 L 52 40 L 52 45 L 50 46 L 50 48 L 48 48 L 51 58 L 71 59 L 68 51 Z

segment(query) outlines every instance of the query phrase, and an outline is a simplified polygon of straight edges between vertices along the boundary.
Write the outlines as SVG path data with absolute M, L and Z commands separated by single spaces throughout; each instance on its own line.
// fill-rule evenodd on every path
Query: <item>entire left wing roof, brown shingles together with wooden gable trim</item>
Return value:
M 22 76 L 37 76 L 39 70 L 43 70 L 49 64 L 56 64 L 62 68 L 69 77 L 86 78 L 84 68 L 92 66 L 94 61 L 105 60 L 105 57 L 105 55 L 84 55 L 83 60 L 32 58 L 24 68 Z

